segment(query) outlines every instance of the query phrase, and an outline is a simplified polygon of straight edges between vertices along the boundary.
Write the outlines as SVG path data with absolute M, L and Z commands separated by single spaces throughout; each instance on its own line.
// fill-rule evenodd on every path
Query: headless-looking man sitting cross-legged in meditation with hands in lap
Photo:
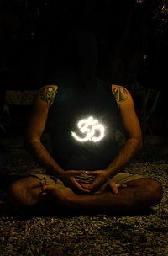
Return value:
M 45 129 L 52 152 L 41 142 Z M 14 181 L 8 189 L 11 205 L 50 202 L 70 213 L 130 214 L 162 198 L 160 182 L 124 171 L 141 147 L 142 137 L 134 101 L 122 86 L 74 76 L 70 83 L 40 88 L 25 142 L 46 173 Z

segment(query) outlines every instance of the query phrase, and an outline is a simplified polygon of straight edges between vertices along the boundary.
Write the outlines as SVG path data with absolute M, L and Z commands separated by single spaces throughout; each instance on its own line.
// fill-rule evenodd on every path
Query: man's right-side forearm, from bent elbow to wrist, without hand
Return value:
M 109 164 L 107 170 L 109 178 L 112 178 L 115 174 L 119 173 L 120 169 L 123 168 L 129 161 L 134 157 L 135 152 L 141 147 L 141 142 L 135 138 L 130 138 L 126 141 L 118 152 L 118 156 L 114 158 L 113 162 Z

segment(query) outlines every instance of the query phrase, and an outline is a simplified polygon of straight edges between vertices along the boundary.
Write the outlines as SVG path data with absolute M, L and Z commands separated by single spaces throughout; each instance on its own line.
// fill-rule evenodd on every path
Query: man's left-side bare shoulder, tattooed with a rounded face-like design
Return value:
M 37 98 L 41 102 L 51 105 L 55 100 L 55 95 L 57 93 L 57 90 L 58 90 L 58 86 L 55 84 L 45 85 L 39 89 Z

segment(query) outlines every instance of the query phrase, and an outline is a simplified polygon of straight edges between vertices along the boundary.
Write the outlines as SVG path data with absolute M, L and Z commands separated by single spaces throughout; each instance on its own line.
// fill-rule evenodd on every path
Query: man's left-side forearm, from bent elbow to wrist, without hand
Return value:
M 60 178 L 61 173 L 64 171 L 50 156 L 50 153 L 45 149 L 44 145 L 40 141 L 26 142 L 25 146 L 30 155 L 39 165 L 51 175 L 55 175 Z

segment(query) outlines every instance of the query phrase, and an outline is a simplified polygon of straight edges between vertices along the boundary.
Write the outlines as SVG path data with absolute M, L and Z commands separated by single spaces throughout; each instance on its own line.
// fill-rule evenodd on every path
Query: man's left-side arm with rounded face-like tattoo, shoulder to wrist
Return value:
M 34 98 L 32 113 L 25 134 L 25 146 L 34 160 L 45 170 L 60 177 L 63 169 L 55 163 L 50 153 L 45 149 L 40 139 L 45 131 L 46 120 L 51 104 L 55 100 L 58 87 L 56 85 L 45 86 L 39 89 Z

